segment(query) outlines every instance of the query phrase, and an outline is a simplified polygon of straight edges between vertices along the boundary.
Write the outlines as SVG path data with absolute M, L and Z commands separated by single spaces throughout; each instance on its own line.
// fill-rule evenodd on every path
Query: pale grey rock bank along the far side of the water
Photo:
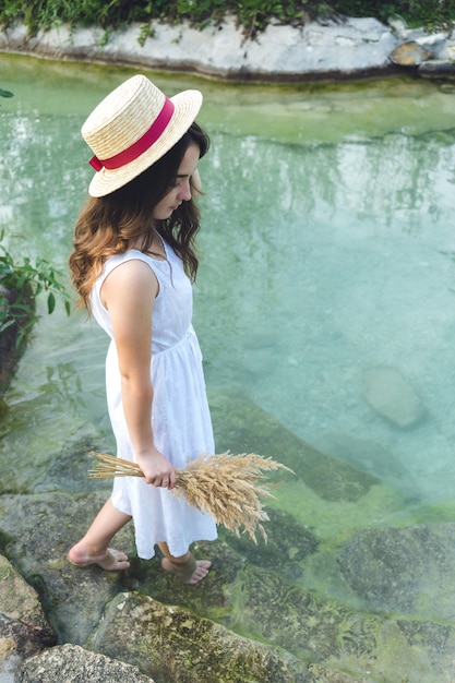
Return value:
M 364 77 L 414 69 L 429 77 L 454 72 L 455 36 L 408 29 L 400 21 L 346 19 L 271 24 L 246 38 L 235 20 L 199 31 L 188 23 L 152 22 L 107 33 L 103 28 L 58 26 L 29 37 L 23 25 L 0 33 L 0 51 L 52 59 L 135 64 L 155 70 L 191 71 L 231 80 L 304 81 Z

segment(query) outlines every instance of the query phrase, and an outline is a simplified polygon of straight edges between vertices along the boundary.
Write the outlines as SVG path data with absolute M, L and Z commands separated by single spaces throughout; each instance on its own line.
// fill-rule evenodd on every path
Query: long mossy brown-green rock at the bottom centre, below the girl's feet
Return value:
M 116 596 L 88 646 L 156 683 L 304 683 L 307 666 L 215 622 L 139 592 Z

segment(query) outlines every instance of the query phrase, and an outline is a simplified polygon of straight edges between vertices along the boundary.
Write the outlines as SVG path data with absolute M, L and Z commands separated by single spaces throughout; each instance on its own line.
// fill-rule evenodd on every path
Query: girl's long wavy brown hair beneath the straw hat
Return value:
M 200 212 L 193 197 L 166 220 L 152 218 L 155 206 L 176 182 L 182 158 L 192 144 L 200 157 L 208 151 L 207 134 L 193 122 L 179 142 L 143 173 L 119 190 L 100 197 L 88 197 L 74 228 L 74 250 L 69 264 L 73 285 L 80 296 L 77 304 L 91 310 L 89 295 L 106 259 L 133 247 L 147 251 L 154 230 L 172 247 L 183 261 L 189 277 L 197 273 L 194 238 L 200 226 Z

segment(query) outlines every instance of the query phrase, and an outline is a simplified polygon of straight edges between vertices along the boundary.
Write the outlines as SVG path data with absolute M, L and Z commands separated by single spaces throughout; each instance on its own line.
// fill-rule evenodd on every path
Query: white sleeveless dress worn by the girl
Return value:
M 205 392 L 202 355 L 191 324 L 192 287 L 183 265 L 166 244 L 167 260 L 130 250 L 108 259 L 92 291 L 93 314 L 111 338 L 106 358 L 106 391 L 109 417 L 117 441 L 117 455 L 133 460 L 123 415 L 116 344 L 108 311 L 100 301 L 107 275 L 125 261 L 140 260 L 154 272 L 159 291 L 153 311 L 152 427 L 156 447 L 172 463 L 185 467 L 202 453 L 214 453 L 211 415 Z M 167 489 L 146 484 L 136 477 L 118 477 L 113 482 L 115 507 L 133 517 L 136 550 L 151 559 L 155 544 L 166 541 L 175 556 L 183 555 L 196 540 L 215 540 L 216 525 Z

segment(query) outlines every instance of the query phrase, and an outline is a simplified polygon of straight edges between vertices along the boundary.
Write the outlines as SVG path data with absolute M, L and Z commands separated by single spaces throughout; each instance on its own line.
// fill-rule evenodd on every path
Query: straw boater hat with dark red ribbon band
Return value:
M 184 135 L 202 105 L 199 91 L 166 97 L 144 75 L 112 91 L 92 111 L 82 136 L 94 152 L 88 193 L 105 196 L 155 164 Z

